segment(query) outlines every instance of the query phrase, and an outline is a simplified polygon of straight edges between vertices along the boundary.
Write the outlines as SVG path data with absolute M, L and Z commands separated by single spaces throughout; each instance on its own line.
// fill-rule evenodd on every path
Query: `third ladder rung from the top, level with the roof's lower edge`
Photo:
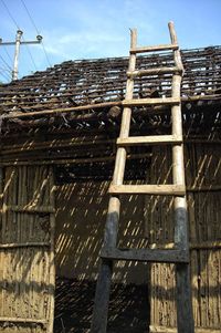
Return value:
M 162 98 L 134 98 L 122 101 L 123 106 L 143 106 L 143 105 L 173 105 L 179 104 L 180 97 L 162 97 Z

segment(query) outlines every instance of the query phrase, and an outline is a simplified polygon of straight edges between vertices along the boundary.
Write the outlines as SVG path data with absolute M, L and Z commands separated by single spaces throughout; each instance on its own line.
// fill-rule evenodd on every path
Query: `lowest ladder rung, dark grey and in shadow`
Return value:
M 189 262 L 187 250 L 159 250 L 159 249 L 102 249 L 102 258 L 113 260 L 134 260 L 147 262 Z

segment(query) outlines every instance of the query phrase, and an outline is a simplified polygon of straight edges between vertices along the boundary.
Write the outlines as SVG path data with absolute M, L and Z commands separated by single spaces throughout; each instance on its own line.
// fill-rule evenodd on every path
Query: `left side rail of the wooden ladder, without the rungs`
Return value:
M 130 31 L 130 48 L 136 48 L 137 31 Z M 136 54 L 130 54 L 128 71 L 134 71 L 136 66 Z M 134 80 L 128 77 L 126 84 L 126 100 L 133 98 Z M 131 118 L 131 108 L 124 107 L 120 126 L 120 138 L 129 135 Z M 126 164 L 127 150 L 125 147 L 118 147 L 115 160 L 113 184 L 122 185 Z M 120 201 L 118 195 L 112 196 L 108 205 L 107 220 L 104 235 L 104 249 L 116 248 L 117 231 L 119 220 Z M 91 333 L 105 333 L 107 326 L 109 292 L 113 275 L 113 259 L 102 259 L 94 301 L 94 311 L 92 318 Z

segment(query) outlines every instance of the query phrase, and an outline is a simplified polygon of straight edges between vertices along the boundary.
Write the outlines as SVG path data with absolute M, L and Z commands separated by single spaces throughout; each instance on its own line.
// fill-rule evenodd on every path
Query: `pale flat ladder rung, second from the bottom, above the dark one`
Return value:
M 109 194 L 117 195 L 156 195 L 156 196 L 185 196 L 185 185 L 110 185 Z

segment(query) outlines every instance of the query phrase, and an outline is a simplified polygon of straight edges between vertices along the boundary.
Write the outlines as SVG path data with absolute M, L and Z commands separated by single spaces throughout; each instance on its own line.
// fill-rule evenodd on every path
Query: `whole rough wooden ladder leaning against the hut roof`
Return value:
M 137 48 L 137 32 L 131 30 L 130 56 L 127 72 L 126 96 L 123 101 L 124 111 L 122 116 L 120 134 L 117 139 L 117 154 L 113 183 L 109 187 L 110 199 L 105 227 L 104 244 L 101 252 L 102 264 L 98 273 L 94 312 L 92 319 L 92 333 L 105 333 L 107 326 L 107 313 L 110 282 L 114 260 L 130 260 L 146 262 L 169 262 L 176 264 L 177 284 L 177 325 L 178 333 L 193 333 L 191 284 L 189 273 L 189 240 L 188 217 L 186 201 L 183 145 L 182 145 L 182 117 L 180 86 L 183 73 L 181 55 L 177 35 L 172 22 L 169 22 L 170 44 Z M 136 70 L 136 54 L 145 52 L 172 50 L 175 66 L 148 70 Z M 161 98 L 133 98 L 134 77 L 172 73 L 171 97 Z M 131 107 L 143 105 L 171 105 L 171 135 L 156 136 L 129 136 Z M 170 185 L 124 185 L 127 146 L 160 145 L 172 146 L 172 179 Z M 120 200 L 119 195 L 164 195 L 175 197 L 175 248 L 173 249 L 118 249 L 117 231 L 119 220 Z

